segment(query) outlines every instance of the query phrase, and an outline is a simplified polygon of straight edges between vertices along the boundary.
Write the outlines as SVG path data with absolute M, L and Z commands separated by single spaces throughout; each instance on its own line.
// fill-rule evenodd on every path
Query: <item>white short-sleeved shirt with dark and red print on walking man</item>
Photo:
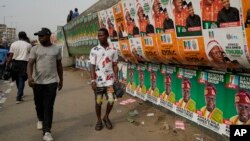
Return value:
M 112 46 L 106 49 L 100 44 L 90 51 L 90 63 L 96 65 L 95 79 L 97 87 L 107 87 L 114 84 L 113 65 L 117 64 L 118 53 Z

